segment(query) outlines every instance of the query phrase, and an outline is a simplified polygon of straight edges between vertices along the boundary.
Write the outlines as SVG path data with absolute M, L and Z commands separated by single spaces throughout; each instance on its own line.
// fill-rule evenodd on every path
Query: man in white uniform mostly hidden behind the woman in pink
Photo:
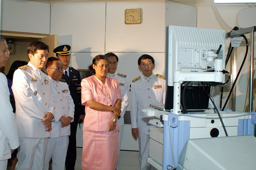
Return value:
M 118 64 L 118 57 L 114 53 L 107 53 L 105 56 L 108 58 L 108 76 L 112 78 L 116 78 L 121 88 L 122 94 L 122 108 L 121 108 L 121 115 L 118 117 L 119 122 L 119 131 L 118 131 L 118 160 L 119 160 L 119 152 L 121 147 L 123 129 L 124 129 L 124 114 L 126 112 L 127 106 L 129 104 L 128 100 L 128 82 L 126 75 L 116 73 L 116 68 Z M 118 163 L 117 163 L 118 168 Z

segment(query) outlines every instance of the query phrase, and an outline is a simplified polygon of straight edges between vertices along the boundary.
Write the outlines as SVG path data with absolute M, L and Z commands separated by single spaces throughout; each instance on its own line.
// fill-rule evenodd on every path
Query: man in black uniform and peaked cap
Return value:
M 69 67 L 70 63 L 70 49 L 69 45 L 61 45 L 56 47 L 53 52 L 56 53 L 63 65 L 63 72 L 61 81 L 65 81 L 68 84 L 70 95 L 75 104 L 74 122 L 70 123 L 70 136 L 68 144 L 68 152 L 66 157 L 66 170 L 74 170 L 76 164 L 76 130 L 77 123 L 84 122 L 84 110 L 85 106 L 81 105 L 81 77 L 78 70 L 73 67 Z

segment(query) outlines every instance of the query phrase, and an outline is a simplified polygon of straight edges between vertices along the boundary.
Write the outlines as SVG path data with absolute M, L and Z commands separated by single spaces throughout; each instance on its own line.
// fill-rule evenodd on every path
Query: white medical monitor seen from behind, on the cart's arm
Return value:
M 173 71 L 214 71 L 214 61 L 207 59 L 206 52 L 218 50 L 217 59 L 223 59 L 225 70 L 225 31 L 220 29 L 167 26 L 165 75 L 168 86 L 173 86 Z M 188 81 L 196 81 L 189 80 Z

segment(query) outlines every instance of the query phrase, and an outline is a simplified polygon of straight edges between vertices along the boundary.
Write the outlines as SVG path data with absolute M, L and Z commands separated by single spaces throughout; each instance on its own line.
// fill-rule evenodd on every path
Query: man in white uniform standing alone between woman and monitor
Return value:
M 138 67 L 143 76 L 132 80 L 131 87 L 131 122 L 132 136 L 139 139 L 139 161 L 140 169 L 148 170 L 151 168 L 147 162 L 149 157 L 149 129 L 156 128 L 148 121 L 154 119 L 147 116 L 142 109 L 151 108 L 151 103 L 163 103 L 165 101 L 166 81 L 165 77 L 153 74 L 155 60 L 150 55 L 142 55 L 138 60 Z M 152 109 L 152 108 L 151 108 Z

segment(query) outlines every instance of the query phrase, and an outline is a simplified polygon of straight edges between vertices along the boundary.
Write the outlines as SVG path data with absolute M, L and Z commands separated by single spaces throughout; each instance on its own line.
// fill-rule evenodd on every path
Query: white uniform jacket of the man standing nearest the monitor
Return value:
M 132 80 L 131 87 L 131 123 L 132 128 L 138 128 L 140 134 L 149 134 L 148 121 L 152 116 L 147 116 L 142 109 L 152 109 L 151 103 L 165 102 L 166 81 L 164 76 L 152 74 L 150 77 L 139 76 Z M 160 78 L 162 77 L 162 78 Z

